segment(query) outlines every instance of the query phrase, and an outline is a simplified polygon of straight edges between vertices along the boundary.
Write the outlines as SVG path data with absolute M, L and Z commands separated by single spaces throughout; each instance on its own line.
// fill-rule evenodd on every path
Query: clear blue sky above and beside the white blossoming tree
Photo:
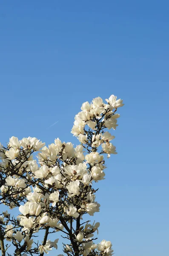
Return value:
M 98 183 L 99 240 L 116 256 L 168 256 L 169 2 L 0 1 L 3 144 L 76 145 L 81 104 L 111 94 L 125 106 L 112 132 L 118 154 Z

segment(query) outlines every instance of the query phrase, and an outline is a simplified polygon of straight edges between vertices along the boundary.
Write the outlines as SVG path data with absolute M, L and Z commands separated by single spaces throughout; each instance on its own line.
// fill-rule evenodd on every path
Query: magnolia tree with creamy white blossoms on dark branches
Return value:
M 110 241 L 95 243 L 99 222 L 84 221 L 83 215 L 99 212 L 93 183 L 104 179 L 104 154 L 117 154 L 107 129 L 116 129 L 122 102 L 112 95 L 106 103 L 100 97 L 83 103 L 72 128 L 80 142 L 76 147 L 58 138 L 47 147 L 32 137 L 11 137 L 0 145 L 0 204 L 15 208 L 0 216 L 2 256 L 11 256 L 9 246 L 12 256 L 43 256 L 57 249 L 58 232 L 68 256 L 113 254 Z

